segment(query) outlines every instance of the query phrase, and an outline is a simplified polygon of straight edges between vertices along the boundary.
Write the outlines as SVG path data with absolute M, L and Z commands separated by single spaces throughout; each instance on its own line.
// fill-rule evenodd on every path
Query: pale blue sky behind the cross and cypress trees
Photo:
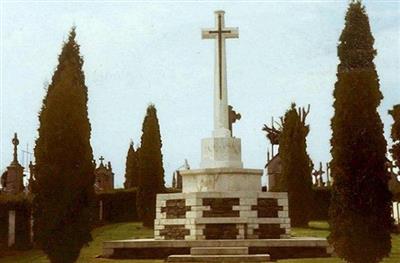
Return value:
M 388 109 L 400 103 L 400 2 L 364 1 L 384 99 L 379 108 L 389 143 Z M 166 182 L 187 158 L 200 163 L 200 140 L 213 125 L 214 43 L 201 28 L 225 10 L 229 104 L 242 119 L 247 168 L 263 168 L 269 144 L 261 130 L 291 102 L 311 104 L 307 138 L 315 164 L 330 160 L 330 118 L 348 1 L 2 1 L 0 170 L 12 160 L 11 139 L 33 151 L 45 85 L 73 25 L 84 57 L 91 144 L 96 159 L 111 161 L 117 187 L 124 181 L 129 142 L 140 142 L 154 103 L 163 142 Z

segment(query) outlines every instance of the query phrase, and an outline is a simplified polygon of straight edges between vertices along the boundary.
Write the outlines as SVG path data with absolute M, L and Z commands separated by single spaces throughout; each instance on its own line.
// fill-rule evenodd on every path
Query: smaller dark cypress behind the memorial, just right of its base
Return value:
M 305 124 L 308 111 L 296 110 L 296 104 L 285 113 L 279 137 L 279 156 L 282 174 L 278 191 L 287 191 L 289 216 L 293 226 L 307 226 L 312 204 L 312 165 L 307 154 L 306 136 L 309 126 Z

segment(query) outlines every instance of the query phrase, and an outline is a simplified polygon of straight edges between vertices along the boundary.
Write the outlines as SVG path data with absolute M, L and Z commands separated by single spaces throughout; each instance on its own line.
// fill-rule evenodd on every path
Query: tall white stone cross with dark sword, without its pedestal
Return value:
M 238 38 L 238 28 L 225 27 L 224 11 L 215 11 L 215 27 L 202 30 L 203 39 L 215 39 L 214 137 L 229 137 L 225 39 Z

